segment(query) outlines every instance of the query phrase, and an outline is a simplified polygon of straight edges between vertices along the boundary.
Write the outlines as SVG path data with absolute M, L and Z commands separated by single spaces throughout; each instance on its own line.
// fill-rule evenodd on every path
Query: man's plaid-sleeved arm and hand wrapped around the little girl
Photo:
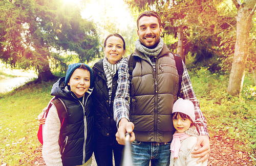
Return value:
M 183 75 L 182 75 L 182 82 L 181 82 L 181 91 L 180 91 L 180 98 L 188 99 L 193 102 L 195 106 L 195 115 L 196 120 L 195 124 L 199 131 L 197 144 L 195 146 L 195 151 L 192 153 L 195 154 L 192 157 L 201 157 L 197 162 L 205 161 L 208 158 L 209 152 L 210 152 L 210 143 L 209 143 L 209 133 L 207 129 L 207 122 L 206 119 L 200 109 L 199 102 L 197 100 L 196 94 L 193 90 L 186 66 L 183 64 Z M 199 149 L 200 145 L 202 146 L 201 149 Z

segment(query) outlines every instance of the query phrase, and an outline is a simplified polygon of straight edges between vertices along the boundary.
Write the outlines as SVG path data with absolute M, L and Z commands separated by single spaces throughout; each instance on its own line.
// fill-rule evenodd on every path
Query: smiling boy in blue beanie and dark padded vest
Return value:
M 52 87 L 51 95 L 60 98 L 67 107 L 67 125 L 60 133 L 60 120 L 54 104 L 46 118 L 42 156 L 47 165 L 91 165 L 92 163 L 92 69 L 82 63 L 69 65 L 66 77 Z M 90 86 L 91 85 L 91 86 Z M 59 134 L 65 139 L 59 147 Z

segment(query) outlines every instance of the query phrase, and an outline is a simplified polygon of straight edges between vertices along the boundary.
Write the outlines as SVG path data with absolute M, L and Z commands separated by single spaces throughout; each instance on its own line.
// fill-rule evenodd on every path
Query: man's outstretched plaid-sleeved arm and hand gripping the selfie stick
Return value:
M 131 133 L 131 142 L 135 140 L 133 132 L 134 124 L 129 122 L 130 109 L 130 81 L 128 59 L 124 58 L 118 68 L 117 90 L 114 99 L 114 120 L 116 121 L 118 130 L 116 140 L 119 144 L 124 145 L 125 133 Z

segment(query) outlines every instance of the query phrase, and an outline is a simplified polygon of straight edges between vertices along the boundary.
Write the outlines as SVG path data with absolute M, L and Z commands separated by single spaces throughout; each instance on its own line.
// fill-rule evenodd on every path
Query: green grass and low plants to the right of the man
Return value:
M 227 93 L 228 75 L 211 74 L 207 68 L 189 74 L 210 135 L 221 135 L 238 142 L 240 149 L 248 151 L 256 163 L 253 155 L 256 153 L 256 98 L 252 96 L 255 91 L 250 76 L 246 74 L 239 98 Z

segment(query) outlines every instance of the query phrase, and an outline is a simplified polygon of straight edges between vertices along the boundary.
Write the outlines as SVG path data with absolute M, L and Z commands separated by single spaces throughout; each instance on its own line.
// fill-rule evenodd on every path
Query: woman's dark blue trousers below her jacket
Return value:
M 95 135 L 94 156 L 98 166 L 113 166 L 113 153 L 115 165 L 121 165 L 124 146 L 119 145 L 116 136 Z

